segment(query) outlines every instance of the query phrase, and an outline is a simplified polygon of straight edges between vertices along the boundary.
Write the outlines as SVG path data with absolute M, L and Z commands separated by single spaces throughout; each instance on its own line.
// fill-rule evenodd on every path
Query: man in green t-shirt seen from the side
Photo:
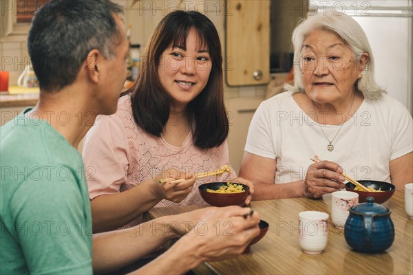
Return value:
M 121 12 L 109 0 L 56 0 L 36 12 L 28 50 L 39 102 L 0 134 L 0 274 L 112 272 L 182 236 L 136 271 L 180 274 L 203 261 L 237 256 L 259 234 L 259 215 L 244 219 L 250 210 L 233 206 L 92 236 L 85 168 L 76 148 L 97 115 L 116 111 L 129 52 Z M 197 223 L 209 228 L 202 236 L 193 230 Z M 231 234 L 217 228 L 228 223 Z

